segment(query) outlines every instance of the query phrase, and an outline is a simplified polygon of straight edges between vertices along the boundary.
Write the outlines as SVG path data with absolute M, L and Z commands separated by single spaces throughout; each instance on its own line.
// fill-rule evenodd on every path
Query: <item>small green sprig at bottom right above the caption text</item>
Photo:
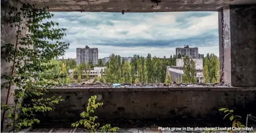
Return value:
M 226 113 L 226 115 L 223 119 L 225 119 L 227 116 L 229 116 L 229 119 L 232 122 L 232 127 L 237 127 L 237 128 L 245 128 L 246 127 L 240 121 L 238 121 L 238 118 L 242 118 L 241 116 L 233 115 L 233 110 L 229 110 L 227 108 L 220 108 L 219 111 L 223 111 L 224 113 Z

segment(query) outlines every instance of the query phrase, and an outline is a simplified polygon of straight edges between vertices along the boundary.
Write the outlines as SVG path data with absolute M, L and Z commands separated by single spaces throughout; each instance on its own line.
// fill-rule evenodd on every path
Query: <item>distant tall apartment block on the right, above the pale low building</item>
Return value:
M 185 46 L 184 48 L 176 48 L 176 55 L 187 55 L 190 58 L 198 58 L 198 48 L 190 48 Z

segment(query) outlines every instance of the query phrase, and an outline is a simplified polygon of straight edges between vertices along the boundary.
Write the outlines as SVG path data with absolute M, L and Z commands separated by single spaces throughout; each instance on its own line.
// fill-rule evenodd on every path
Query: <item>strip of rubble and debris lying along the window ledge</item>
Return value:
M 57 86 L 56 88 L 231 88 L 232 86 L 226 85 L 223 83 L 191 83 L 191 84 L 164 84 L 164 83 L 157 83 L 157 84 L 147 84 L 147 83 L 139 83 L 139 84 L 111 84 L 111 83 L 80 83 L 80 84 L 64 84 Z

